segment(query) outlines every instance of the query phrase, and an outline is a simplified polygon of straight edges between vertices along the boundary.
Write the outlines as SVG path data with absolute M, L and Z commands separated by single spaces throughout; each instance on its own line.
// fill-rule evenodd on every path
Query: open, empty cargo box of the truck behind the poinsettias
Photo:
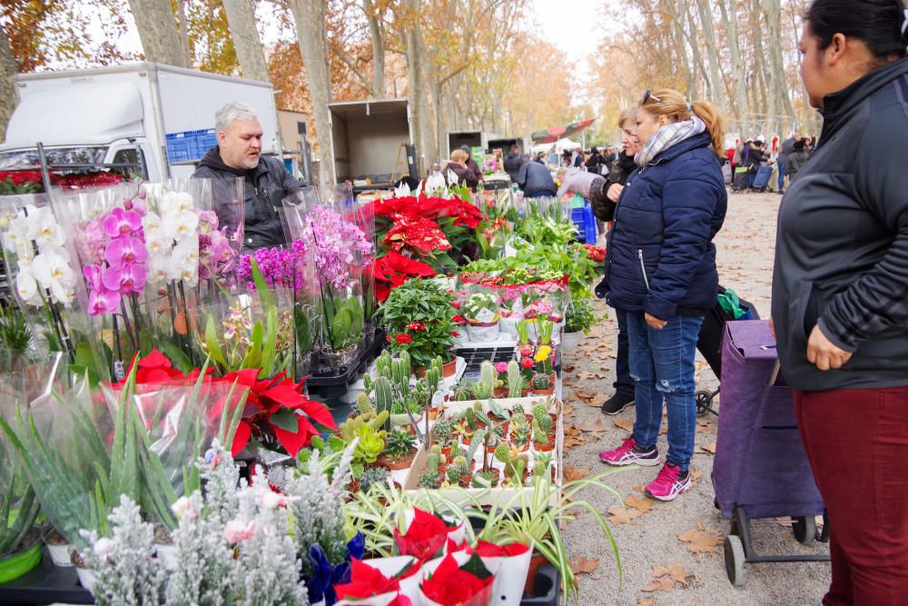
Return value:
M 328 109 L 338 183 L 350 181 L 356 192 L 389 188 L 402 176 L 419 178 L 406 99 L 331 103 Z

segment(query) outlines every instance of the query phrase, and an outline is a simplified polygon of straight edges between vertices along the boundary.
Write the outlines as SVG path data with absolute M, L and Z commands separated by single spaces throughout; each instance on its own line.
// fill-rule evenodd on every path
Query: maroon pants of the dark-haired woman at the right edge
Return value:
M 829 514 L 824 605 L 908 603 L 908 387 L 795 391 L 795 412 Z

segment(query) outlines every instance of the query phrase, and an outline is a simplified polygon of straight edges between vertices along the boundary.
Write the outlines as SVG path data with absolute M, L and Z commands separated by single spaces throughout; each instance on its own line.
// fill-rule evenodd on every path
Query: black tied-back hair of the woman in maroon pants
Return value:
M 843 34 L 863 42 L 878 61 L 908 56 L 903 0 L 814 0 L 804 20 L 821 51 Z

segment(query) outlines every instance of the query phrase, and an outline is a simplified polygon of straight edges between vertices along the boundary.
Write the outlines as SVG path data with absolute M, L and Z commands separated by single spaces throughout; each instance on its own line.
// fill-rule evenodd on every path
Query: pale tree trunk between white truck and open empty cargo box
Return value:
M 302 65 L 306 69 L 309 94 L 312 99 L 312 117 L 319 150 L 319 185 L 328 187 L 337 181 L 331 142 L 331 75 L 328 65 L 328 36 L 325 0 L 293 0 L 291 2 L 296 35 L 300 45 Z

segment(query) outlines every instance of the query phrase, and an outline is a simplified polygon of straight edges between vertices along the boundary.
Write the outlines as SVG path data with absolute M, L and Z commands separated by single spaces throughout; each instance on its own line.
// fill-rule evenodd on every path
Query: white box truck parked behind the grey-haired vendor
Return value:
M 0 170 L 38 164 L 114 164 L 148 181 L 188 177 L 217 144 L 214 114 L 229 101 L 255 109 L 263 154 L 281 156 L 271 84 L 139 63 L 20 74 L 19 104 L 0 144 Z

